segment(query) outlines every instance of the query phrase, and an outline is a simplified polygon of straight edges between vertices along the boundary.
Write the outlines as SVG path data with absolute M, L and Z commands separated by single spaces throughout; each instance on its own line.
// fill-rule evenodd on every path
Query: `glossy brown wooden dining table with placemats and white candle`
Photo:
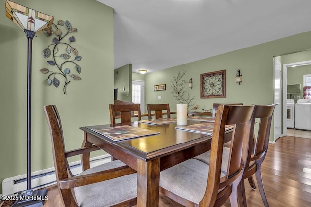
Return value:
M 203 122 L 188 120 L 187 125 L 199 123 Z M 127 124 L 158 134 L 115 141 L 96 132 L 111 127 L 110 124 L 85 126 L 80 128 L 84 131 L 82 147 L 96 145 L 136 170 L 137 207 L 158 207 L 160 172 L 210 150 L 212 135 L 176 129 L 176 122 L 153 125 L 135 121 Z M 231 134 L 232 130 L 225 133 L 224 142 L 231 140 Z M 82 165 L 87 166 L 89 154 L 81 159 Z

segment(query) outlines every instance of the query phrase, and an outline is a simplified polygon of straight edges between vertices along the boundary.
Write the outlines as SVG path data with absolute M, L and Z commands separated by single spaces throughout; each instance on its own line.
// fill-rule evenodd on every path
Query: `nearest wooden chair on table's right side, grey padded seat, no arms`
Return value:
M 211 138 L 209 165 L 188 159 L 160 174 L 160 192 L 184 206 L 221 206 L 230 198 L 238 206 L 237 186 L 245 168 L 255 106 L 219 105 Z M 233 125 L 232 150 L 226 172 L 221 172 L 225 125 Z

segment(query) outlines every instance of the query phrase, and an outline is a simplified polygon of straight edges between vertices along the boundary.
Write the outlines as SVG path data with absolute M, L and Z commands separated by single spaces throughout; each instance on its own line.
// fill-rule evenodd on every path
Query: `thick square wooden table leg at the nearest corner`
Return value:
M 137 159 L 137 207 L 158 207 L 160 158 L 145 162 Z

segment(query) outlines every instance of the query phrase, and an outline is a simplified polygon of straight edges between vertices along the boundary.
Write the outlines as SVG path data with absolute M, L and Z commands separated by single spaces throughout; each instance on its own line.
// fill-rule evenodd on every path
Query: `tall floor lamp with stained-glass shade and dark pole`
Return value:
M 35 34 L 45 31 L 53 24 L 54 17 L 35 11 L 31 8 L 5 0 L 5 15 L 26 34 L 28 40 L 27 52 L 27 191 L 20 196 L 14 205 L 40 207 L 43 205 L 46 189 L 33 191 L 31 188 L 31 53 L 32 40 Z

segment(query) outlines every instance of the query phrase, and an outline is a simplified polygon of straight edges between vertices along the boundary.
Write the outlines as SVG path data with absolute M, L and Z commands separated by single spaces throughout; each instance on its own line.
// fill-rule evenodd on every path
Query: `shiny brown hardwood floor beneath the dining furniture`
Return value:
M 262 177 L 270 207 L 310 207 L 311 139 L 287 136 L 269 144 Z M 251 190 L 248 181 L 245 189 L 247 205 L 262 207 L 259 190 Z M 48 187 L 48 196 L 44 207 L 63 207 L 56 185 Z M 181 207 L 163 195 L 160 195 L 159 206 Z M 223 206 L 231 205 L 227 201 Z

